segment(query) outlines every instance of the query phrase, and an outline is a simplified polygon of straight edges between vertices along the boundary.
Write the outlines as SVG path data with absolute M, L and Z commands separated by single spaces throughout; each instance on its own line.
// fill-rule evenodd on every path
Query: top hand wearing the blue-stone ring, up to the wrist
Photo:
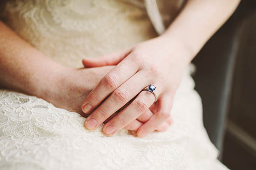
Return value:
M 172 43 L 173 42 L 173 43 Z M 82 111 L 91 113 L 85 126 L 93 130 L 138 96 L 103 127 L 112 135 L 127 126 L 137 126 L 137 136 L 144 137 L 169 120 L 176 89 L 183 70 L 189 64 L 189 50 L 178 41 L 153 38 L 126 50 L 98 58 L 83 59 L 85 67 L 116 65 L 82 103 Z M 155 96 L 143 88 L 153 84 Z M 141 119 L 147 117 L 144 124 Z

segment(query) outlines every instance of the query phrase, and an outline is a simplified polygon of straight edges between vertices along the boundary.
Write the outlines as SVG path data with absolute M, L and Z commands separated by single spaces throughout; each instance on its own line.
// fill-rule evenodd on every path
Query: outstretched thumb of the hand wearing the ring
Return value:
M 124 50 L 116 51 L 107 55 L 102 55 L 96 58 L 84 58 L 82 63 L 84 67 L 101 67 L 107 65 L 117 65 L 120 63 L 126 56 L 130 54 L 132 47 L 129 47 Z

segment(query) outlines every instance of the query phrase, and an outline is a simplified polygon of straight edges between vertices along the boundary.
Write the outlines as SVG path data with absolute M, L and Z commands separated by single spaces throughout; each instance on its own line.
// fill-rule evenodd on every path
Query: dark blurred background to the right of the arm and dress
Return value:
M 219 159 L 231 170 L 256 170 L 256 0 L 241 0 L 192 62 Z

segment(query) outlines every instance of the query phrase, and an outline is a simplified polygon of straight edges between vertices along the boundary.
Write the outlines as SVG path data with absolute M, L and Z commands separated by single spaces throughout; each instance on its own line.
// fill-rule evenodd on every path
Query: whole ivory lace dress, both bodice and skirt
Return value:
M 142 0 L 10 0 L 4 19 L 53 60 L 81 58 L 157 36 Z M 226 170 L 202 124 L 202 104 L 184 73 L 167 132 L 112 137 L 84 128 L 85 118 L 34 96 L 0 89 L 1 170 Z

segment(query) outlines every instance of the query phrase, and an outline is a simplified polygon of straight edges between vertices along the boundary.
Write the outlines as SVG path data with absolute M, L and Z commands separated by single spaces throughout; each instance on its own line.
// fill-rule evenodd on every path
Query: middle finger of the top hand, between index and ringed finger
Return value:
M 140 83 L 138 80 L 141 80 L 144 84 Z M 127 82 L 117 88 L 99 107 L 94 110 L 90 116 L 88 116 L 85 126 L 90 130 L 97 128 L 102 122 L 107 120 L 108 117 L 139 94 L 141 89 L 145 88 L 145 84 L 148 84 L 147 81 L 149 80 L 147 80 L 144 71 L 136 73 Z M 151 95 L 154 97 L 153 94 Z M 92 124 L 87 125 L 88 121 L 92 122 Z

